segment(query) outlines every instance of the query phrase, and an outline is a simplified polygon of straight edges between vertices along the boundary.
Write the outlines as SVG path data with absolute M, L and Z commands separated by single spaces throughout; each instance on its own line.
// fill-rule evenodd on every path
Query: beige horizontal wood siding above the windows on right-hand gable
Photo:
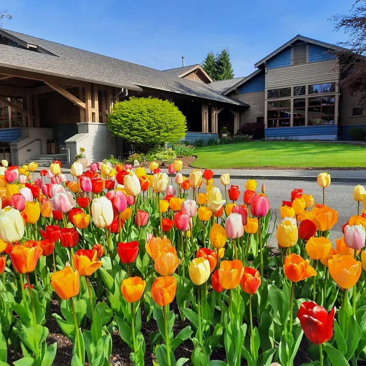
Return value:
M 266 89 L 338 82 L 339 70 L 337 66 L 336 60 L 328 60 L 268 69 Z

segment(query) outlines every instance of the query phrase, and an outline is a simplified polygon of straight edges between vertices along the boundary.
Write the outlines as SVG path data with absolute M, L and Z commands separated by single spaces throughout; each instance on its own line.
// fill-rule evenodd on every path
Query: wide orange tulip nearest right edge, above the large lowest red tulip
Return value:
M 352 256 L 332 256 L 328 260 L 329 274 L 342 289 L 353 287 L 361 275 L 362 265 Z

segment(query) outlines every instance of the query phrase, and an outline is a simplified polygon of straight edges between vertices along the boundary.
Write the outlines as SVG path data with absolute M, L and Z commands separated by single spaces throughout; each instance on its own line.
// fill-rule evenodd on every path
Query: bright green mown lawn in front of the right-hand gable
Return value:
M 366 146 L 305 141 L 255 141 L 195 149 L 194 167 L 366 167 Z

